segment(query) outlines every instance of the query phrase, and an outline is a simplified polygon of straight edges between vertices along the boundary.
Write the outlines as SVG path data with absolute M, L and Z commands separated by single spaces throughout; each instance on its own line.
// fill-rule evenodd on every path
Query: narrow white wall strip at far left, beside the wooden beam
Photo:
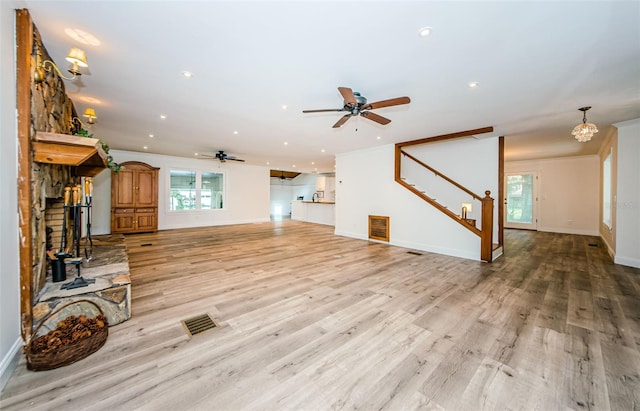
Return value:
M 20 337 L 15 8 L 0 1 L 0 391 L 15 369 Z

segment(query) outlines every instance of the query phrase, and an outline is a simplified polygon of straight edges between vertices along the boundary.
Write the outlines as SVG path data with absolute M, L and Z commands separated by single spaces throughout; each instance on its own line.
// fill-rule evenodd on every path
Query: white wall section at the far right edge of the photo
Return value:
M 617 264 L 640 268 L 640 119 L 618 128 Z

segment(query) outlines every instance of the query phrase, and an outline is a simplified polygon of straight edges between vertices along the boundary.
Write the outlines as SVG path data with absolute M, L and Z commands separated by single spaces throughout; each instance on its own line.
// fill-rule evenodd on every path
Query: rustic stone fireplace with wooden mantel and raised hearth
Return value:
M 51 60 L 35 26 L 33 26 L 32 40 L 33 44 L 29 45 L 32 50 L 31 69 L 35 66 L 36 49 L 40 50 L 43 59 Z M 85 257 L 84 241 L 86 241 L 82 239 L 82 256 L 76 255 L 79 254 L 76 250 L 74 257 L 77 261 L 65 264 L 67 281 L 54 283 L 50 275 L 49 261 L 51 255 L 59 251 L 60 239 L 65 230 L 67 233 L 65 251 L 73 251 L 71 246 L 74 224 L 70 218 L 69 209 L 67 209 L 66 226 L 63 226 L 62 223 L 65 210 L 65 187 L 81 184 L 83 176 L 95 175 L 87 174 L 88 169 L 92 169 L 94 173 L 109 172 L 106 170 L 106 163 L 100 159 L 100 157 L 104 159 L 103 156 L 98 157 L 97 163 L 85 161 L 82 166 L 58 161 L 58 156 L 77 152 L 77 150 L 70 149 L 70 145 L 74 145 L 76 148 L 88 146 L 90 150 L 98 152 L 102 149 L 98 147 L 97 139 L 74 136 L 80 131 L 82 123 L 78 120 L 73 102 L 66 95 L 63 80 L 55 71 L 47 72 L 45 81 L 41 84 L 36 85 L 30 80 L 30 90 L 28 91 L 30 92 L 30 142 L 28 145 L 20 146 L 22 150 L 29 152 L 29 167 L 27 169 L 30 170 L 31 177 L 28 180 L 30 183 L 28 193 L 22 194 L 20 197 L 21 203 L 27 200 L 26 204 L 30 205 L 30 217 L 25 219 L 30 221 L 30 224 L 28 224 L 28 228 L 21 225 L 23 232 L 25 228 L 30 232 L 30 241 L 27 241 L 27 244 L 21 244 L 21 250 L 23 247 L 29 247 L 31 251 L 30 258 L 24 259 L 31 259 L 31 278 L 28 287 L 30 293 L 21 294 L 23 336 L 28 337 L 29 330 L 33 329 L 33 325 L 45 318 L 60 304 L 79 299 L 94 301 L 107 316 L 110 325 L 118 324 L 130 318 L 131 315 L 131 281 L 124 237 L 100 236 L 100 238 L 94 238 L 92 258 L 82 258 Z M 26 113 L 26 116 L 24 114 L 24 112 L 19 112 L 19 117 L 22 115 L 29 118 L 29 113 Z M 61 140 L 54 142 L 57 144 L 54 154 L 46 152 L 46 149 L 43 154 L 43 147 L 51 144 L 47 140 L 50 137 Z M 90 160 L 95 160 L 95 157 L 92 156 Z M 24 174 L 26 175 L 26 172 Z M 20 183 L 19 187 L 21 187 Z M 98 201 L 104 201 L 104 199 Z M 22 209 L 20 211 L 21 216 L 24 215 Z M 86 215 L 85 207 L 82 208 L 82 213 Z M 78 224 L 82 226 L 83 234 L 86 233 L 86 225 L 80 222 L 81 218 L 78 220 Z M 82 277 L 91 279 L 91 284 L 72 290 L 61 289 L 63 283 L 68 283 L 76 277 L 78 267 L 80 267 Z M 28 270 L 22 271 L 21 268 L 21 282 L 22 279 L 28 277 Z M 27 287 L 23 287 L 23 289 L 27 289 Z M 31 309 L 24 309 L 25 305 L 30 306 Z M 76 304 L 73 309 L 81 308 L 78 308 Z M 67 312 L 63 310 L 59 315 L 67 315 Z M 47 324 L 52 323 L 55 327 L 56 321 L 57 319 L 49 319 Z M 47 328 L 45 326 L 42 330 L 45 331 Z M 24 331 L 25 329 L 27 331 Z

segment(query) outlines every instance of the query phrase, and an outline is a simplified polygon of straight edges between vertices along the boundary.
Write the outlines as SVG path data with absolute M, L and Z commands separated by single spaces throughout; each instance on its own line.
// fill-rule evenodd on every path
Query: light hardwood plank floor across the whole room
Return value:
M 128 236 L 133 318 L 78 363 L 22 360 L 0 409 L 640 409 L 640 270 L 597 238 L 507 230 L 486 264 L 332 233 Z M 189 339 L 201 313 L 220 327 Z

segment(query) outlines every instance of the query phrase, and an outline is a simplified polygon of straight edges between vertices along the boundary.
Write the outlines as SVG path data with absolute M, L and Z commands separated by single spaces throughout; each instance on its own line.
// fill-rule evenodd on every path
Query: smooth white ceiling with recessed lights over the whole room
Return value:
M 80 113 L 96 109 L 92 131 L 113 149 L 225 150 L 328 172 L 338 153 L 485 126 L 506 136 L 507 160 L 593 154 L 611 124 L 640 117 L 638 1 L 24 5 L 61 68 L 71 46 L 86 51 L 89 68 L 67 93 Z M 418 35 L 424 26 L 431 36 Z M 338 86 L 411 103 L 375 110 L 386 126 L 358 117 L 332 129 L 343 113 L 302 113 L 341 108 Z M 600 132 L 578 143 L 570 132 L 587 105 Z

